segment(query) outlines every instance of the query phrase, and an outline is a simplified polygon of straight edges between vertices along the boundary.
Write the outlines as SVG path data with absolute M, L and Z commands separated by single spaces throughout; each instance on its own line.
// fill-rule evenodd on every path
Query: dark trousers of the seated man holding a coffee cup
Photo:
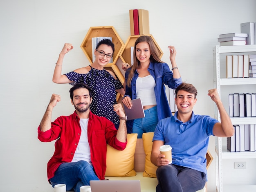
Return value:
M 206 174 L 179 165 L 157 168 L 157 192 L 195 192 L 204 188 Z

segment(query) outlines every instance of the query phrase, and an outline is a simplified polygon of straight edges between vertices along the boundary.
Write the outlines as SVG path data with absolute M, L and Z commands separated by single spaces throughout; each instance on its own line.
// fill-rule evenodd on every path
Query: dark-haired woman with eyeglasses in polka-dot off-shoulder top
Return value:
M 67 74 L 61 74 L 63 58 L 73 49 L 72 44 L 65 43 L 59 54 L 52 81 L 54 83 L 85 83 L 92 89 L 92 103 L 90 110 L 93 114 L 104 116 L 119 126 L 119 116 L 114 112 L 113 105 L 117 103 L 116 92 L 124 95 L 124 86 L 112 71 L 104 69 L 110 62 L 115 51 L 115 45 L 109 39 L 101 40 L 94 50 L 95 60 L 92 65 L 75 69 Z

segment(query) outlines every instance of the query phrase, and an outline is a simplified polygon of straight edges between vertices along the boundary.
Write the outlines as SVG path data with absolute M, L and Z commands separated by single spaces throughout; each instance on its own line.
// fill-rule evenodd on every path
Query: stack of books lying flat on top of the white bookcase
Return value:
M 226 33 L 220 34 L 218 42 L 220 46 L 226 45 L 246 45 L 246 38 L 248 37 L 247 33 Z

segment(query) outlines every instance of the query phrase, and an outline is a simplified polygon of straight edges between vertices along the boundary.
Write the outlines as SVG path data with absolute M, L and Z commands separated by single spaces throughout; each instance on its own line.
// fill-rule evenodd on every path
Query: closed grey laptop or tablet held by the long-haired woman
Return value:
M 136 118 L 144 118 L 145 117 L 145 113 L 144 113 L 144 109 L 143 109 L 143 105 L 141 102 L 141 99 L 132 99 L 132 108 L 128 109 L 125 105 L 124 105 L 124 111 L 126 113 L 127 116 L 127 120 L 132 120 L 132 119 L 136 119 Z

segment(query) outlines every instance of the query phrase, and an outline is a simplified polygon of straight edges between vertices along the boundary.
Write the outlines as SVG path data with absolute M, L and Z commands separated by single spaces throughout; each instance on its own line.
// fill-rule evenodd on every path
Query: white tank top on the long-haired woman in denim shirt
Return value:
M 142 105 L 156 105 L 155 99 L 155 79 L 152 75 L 138 77 L 136 80 L 136 98 L 140 98 Z

